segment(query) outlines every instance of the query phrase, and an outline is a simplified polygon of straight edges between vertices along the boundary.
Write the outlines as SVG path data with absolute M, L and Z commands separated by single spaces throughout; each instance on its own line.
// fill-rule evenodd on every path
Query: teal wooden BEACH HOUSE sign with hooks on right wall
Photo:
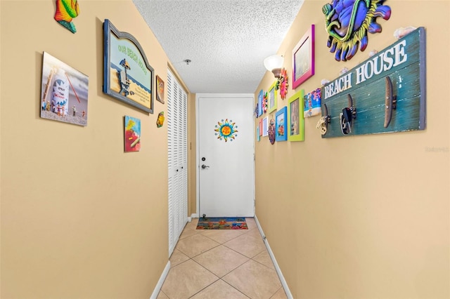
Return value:
M 425 79 L 419 27 L 322 87 L 322 138 L 424 130 Z

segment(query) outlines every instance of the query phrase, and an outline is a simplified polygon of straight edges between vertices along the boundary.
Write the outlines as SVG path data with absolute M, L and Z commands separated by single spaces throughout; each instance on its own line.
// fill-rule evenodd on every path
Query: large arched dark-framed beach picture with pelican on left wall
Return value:
M 153 113 L 153 68 L 139 42 L 103 23 L 103 93 L 145 112 Z

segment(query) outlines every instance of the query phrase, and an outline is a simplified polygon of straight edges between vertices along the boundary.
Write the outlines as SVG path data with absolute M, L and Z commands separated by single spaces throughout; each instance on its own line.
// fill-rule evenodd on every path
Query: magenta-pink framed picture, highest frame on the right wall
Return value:
M 293 49 L 293 89 L 314 75 L 314 24 Z

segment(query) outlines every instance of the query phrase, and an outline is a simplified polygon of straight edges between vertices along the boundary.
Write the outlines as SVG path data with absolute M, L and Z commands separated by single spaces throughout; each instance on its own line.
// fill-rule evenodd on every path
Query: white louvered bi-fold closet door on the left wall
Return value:
M 167 69 L 169 255 L 188 222 L 188 95 Z

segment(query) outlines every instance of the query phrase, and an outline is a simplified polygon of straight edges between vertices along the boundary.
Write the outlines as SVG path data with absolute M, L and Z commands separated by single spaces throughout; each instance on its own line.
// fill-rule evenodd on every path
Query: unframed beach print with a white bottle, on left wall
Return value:
M 89 77 L 44 52 L 41 118 L 87 126 Z

